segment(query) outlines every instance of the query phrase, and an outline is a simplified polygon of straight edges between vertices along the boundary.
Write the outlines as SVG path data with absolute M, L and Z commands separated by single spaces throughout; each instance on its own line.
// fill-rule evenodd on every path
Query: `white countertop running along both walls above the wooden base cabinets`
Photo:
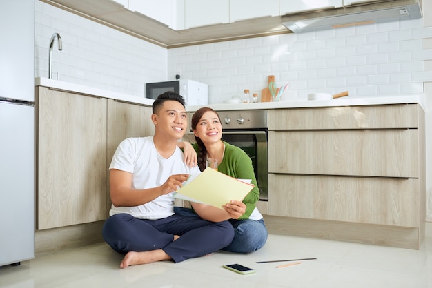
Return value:
M 90 88 L 84 85 L 58 81 L 43 77 L 35 78 L 35 86 L 43 86 L 55 88 L 68 92 L 76 92 L 79 94 L 95 95 L 108 99 L 117 99 L 130 103 L 138 103 L 151 106 L 153 99 L 147 99 L 144 96 L 134 96 L 130 94 L 122 94 L 108 90 Z M 259 110 L 259 109 L 282 109 L 282 108 L 302 108 L 302 107 L 340 107 L 340 106 L 358 106 L 358 105 L 385 105 L 385 104 L 401 104 L 401 103 L 418 103 L 426 110 L 426 95 L 425 94 L 402 94 L 402 95 L 385 95 L 385 96 L 345 96 L 331 100 L 306 100 L 296 99 L 281 102 L 261 102 L 261 103 L 238 103 L 238 104 L 209 104 L 216 111 L 224 110 Z M 193 112 L 202 106 L 186 106 L 186 111 Z

